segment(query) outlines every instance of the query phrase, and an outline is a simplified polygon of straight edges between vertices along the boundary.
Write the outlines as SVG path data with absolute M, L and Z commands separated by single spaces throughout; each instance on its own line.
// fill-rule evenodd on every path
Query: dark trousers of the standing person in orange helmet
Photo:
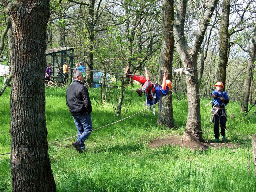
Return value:
M 216 109 L 214 110 L 216 111 Z M 225 110 L 219 109 L 217 111 L 217 114 L 213 115 L 213 122 L 214 122 L 215 138 L 219 138 L 220 134 L 222 136 L 225 136 L 226 122 L 227 122 L 227 116 L 226 116 Z

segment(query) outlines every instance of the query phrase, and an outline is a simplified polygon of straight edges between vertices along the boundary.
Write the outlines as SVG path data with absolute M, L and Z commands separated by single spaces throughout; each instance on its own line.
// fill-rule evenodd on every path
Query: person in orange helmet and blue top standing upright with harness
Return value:
M 224 85 L 222 82 L 217 82 L 215 84 L 216 90 L 212 92 L 212 114 L 214 122 L 214 136 L 215 139 L 213 142 L 219 142 L 219 136 L 222 135 L 222 142 L 225 142 L 227 138 L 225 137 L 226 131 L 226 122 L 227 122 L 227 114 L 225 106 L 229 103 L 228 94 L 224 89 Z M 220 131 L 220 132 L 219 132 Z

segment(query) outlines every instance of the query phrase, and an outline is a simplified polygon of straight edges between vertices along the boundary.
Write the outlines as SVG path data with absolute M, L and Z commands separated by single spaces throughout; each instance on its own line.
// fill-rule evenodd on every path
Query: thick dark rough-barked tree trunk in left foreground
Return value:
M 12 22 L 12 191 L 56 191 L 45 121 L 45 33 L 49 0 L 8 5 Z

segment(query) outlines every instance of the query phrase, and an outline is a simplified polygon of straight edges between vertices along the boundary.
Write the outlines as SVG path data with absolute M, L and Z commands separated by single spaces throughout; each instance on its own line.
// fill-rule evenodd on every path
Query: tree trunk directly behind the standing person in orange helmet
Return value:
M 217 69 L 217 81 L 226 84 L 226 70 L 228 63 L 228 26 L 229 26 L 229 0 L 223 0 L 222 14 L 220 23 L 220 39 L 219 39 L 219 64 Z

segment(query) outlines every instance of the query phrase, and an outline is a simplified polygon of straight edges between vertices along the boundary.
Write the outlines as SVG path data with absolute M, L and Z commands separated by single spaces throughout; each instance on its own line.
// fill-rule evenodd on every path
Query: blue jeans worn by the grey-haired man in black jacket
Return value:
M 74 122 L 76 124 L 77 128 L 77 134 L 82 134 L 79 135 L 77 138 L 77 141 L 80 142 L 81 144 L 81 149 L 83 149 L 84 146 L 84 141 L 89 137 L 92 131 L 92 120 L 91 120 L 91 115 L 89 113 L 84 113 L 81 116 L 73 116 Z M 87 133 L 86 133 L 87 132 Z

